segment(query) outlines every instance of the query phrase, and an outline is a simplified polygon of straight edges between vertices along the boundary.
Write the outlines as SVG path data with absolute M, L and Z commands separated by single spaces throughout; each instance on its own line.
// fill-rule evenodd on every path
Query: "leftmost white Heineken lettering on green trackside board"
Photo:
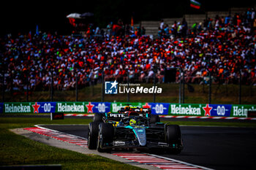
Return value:
M 6 113 L 28 113 L 31 107 L 23 104 L 4 104 L 4 112 Z

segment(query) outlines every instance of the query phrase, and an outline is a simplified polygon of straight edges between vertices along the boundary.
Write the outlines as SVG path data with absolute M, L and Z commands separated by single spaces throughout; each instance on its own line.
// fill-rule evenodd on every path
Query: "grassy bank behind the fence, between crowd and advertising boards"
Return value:
M 141 84 L 150 88 L 153 84 Z M 185 85 L 185 103 L 206 104 L 208 103 L 208 85 L 192 85 L 195 88 L 190 93 Z M 162 93 L 156 95 L 157 102 L 178 103 L 178 84 L 157 84 L 162 88 Z M 78 101 L 102 101 L 102 85 L 86 87 L 78 90 Z M 238 85 L 212 85 L 211 87 L 212 104 L 238 104 Z M 256 104 L 256 86 L 242 85 L 241 103 Z M 22 92 L 13 96 L 10 92 L 5 93 L 5 101 L 26 101 L 26 95 Z M 29 96 L 29 101 L 50 101 L 49 91 L 35 91 Z M 53 101 L 75 101 L 75 90 L 54 91 Z M 105 101 L 127 101 L 127 94 L 105 95 Z M 153 94 L 130 94 L 130 102 L 151 102 Z

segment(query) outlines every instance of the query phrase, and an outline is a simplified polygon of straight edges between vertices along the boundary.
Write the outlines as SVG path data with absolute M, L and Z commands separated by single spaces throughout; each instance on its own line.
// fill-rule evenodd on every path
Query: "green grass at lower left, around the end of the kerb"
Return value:
M 26 164 L 61 164 L 62 169 L 139 169 L 99 155 L 50 147 L 12 133 L 10 128 L 24 128 L 34 124 L 86 124 L 87 119 L 53 120 L 49 118 L 0 117 L 0 166 Z

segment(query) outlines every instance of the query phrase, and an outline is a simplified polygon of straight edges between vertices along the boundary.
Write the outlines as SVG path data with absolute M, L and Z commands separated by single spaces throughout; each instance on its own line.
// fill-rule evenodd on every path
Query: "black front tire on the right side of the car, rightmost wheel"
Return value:
M 167 143 L 176 144 L 176 148 L 170 148 L 170 152 L 173 154 L 180 153 L 183 146 L 181 142 L 181 128 L 179 125 L 167 125 L 165 137 Z

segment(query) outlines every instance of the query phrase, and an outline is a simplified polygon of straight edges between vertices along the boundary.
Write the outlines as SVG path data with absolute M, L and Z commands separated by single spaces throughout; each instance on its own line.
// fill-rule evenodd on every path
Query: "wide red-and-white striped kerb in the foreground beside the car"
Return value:
M 36 134 L 41 134 L 44 136 L 49 136 L 53 139 L 60 140 L 62 142 L 67 142 L 70 144 L 77 144 L 80 147 L 88 147 L 87 146 L 87 139 L 75 136 L 71 134 L 66 134 L 60 131 L 54 131 L 49 128 L 43 128 L 39 125 L 33 128 L 23 128 L 27 131 L 34 132 Z M 171 158 L 165 158 L 159 155 L 151 155 L 148 153 L 135 153 L 135 152 L 113 152 L 112 155 L 119 156 L 121 158 L 126 158 L 129 161 L 134 161 L 137 163 L 143 163 L 146 165 L 154 166 L 159 169 L 208 169 L 203 166 L 196 166 L 191 163 L 186 163 L 178 160 L 174 160 Z

